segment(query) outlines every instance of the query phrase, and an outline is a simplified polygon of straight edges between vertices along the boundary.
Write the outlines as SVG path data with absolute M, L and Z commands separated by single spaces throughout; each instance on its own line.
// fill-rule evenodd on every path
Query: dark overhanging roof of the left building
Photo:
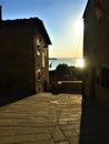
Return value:
M 33 28 L 37 28 L 40 33 L 43 35 L 48 44 L 51 44 L 51 40 L 49 38 L 49 34 L 44 28 L 44 24 L 42 20 L 39 18 L 30 18 L 30 19 L 17 19 L 17 20 L 2 20 L 0 22 L 0 25 L 30 25 Z

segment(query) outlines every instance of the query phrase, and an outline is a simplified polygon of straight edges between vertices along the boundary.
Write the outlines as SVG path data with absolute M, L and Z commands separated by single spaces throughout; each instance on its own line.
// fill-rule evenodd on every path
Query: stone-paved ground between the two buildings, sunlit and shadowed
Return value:
M 0 144 L 109 144 L 109 116 L 98 112 L 79 94 L 31 95 L 0 107 Z

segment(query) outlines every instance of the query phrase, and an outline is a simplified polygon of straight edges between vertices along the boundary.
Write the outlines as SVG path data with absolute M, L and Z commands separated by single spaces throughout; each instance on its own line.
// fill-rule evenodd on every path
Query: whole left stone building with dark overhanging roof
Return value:
M 40 19 L 0 20 L 1 94 L 47 90 L 49 44 L 50 38 Z

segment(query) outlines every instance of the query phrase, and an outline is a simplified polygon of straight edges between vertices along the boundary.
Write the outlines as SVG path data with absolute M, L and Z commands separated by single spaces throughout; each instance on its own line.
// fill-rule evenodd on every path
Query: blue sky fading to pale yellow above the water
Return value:
M 0 0 L 2 19 L 38 17 L 52 42 L 50 58 L 82 58 L 83 20 L 88 0 Z

